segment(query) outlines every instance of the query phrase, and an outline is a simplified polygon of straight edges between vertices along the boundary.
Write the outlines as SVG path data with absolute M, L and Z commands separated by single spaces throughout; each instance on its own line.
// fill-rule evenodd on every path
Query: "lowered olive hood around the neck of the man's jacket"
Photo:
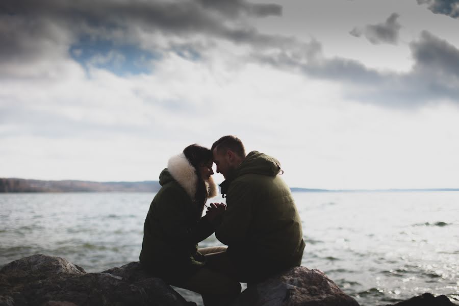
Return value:
M 238 176 L 244 174 L 275 176 L 281 171 L 281 163 L 277 159 L 259 151 L 251 151 L 236 169 L 234 177 L 220 184 L 221 193 L 226 194 L 231 182 Z

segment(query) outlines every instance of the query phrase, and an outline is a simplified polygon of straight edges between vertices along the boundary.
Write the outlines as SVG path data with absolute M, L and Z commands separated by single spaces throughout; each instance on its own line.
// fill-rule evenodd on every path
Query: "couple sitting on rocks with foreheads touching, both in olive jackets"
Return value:
M 226 205 L 217 195 L 212 165 L 223 174 Z M 265 154 L 245 154 L 235 136 L 211 149 L 192 144 L 173 156 L 160 174 L 161 189 L 145 219 L 140 263 L 170 285 L 202 295 L 206 306 L 228 305 L 254 284 L 301 264 L 301 221 L 279 162 Z M 202 216 L 207 206 L 206 215 Z M 215 232 L 227 245 L 199 248 Z

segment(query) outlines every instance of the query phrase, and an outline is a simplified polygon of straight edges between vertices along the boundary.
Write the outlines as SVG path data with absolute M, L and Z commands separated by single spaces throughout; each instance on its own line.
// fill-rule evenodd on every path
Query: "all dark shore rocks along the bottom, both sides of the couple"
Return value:
M 0 306 L 193 305 L 160 278 L 145 274 L 138 262 L 86 273 L 60 257 L 36 254 L 0 270 Z M 358 306 L 323 272 L 295 267 L 250 286 L 234 306 Z M 444 295 L 426 293 L 397 306 L 453 306 Z

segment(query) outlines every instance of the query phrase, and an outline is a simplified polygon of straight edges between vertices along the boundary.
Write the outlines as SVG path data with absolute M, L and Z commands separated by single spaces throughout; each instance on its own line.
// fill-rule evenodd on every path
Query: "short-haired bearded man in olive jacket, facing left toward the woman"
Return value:
M 245 154 L 235 136 L 212 145 L 217 172 L 225 181 L 226 212 L 215 231 L 228 248 L 209 263 L 242 283 L 299 266 L 304 249 L 301 220 L 279 162 L 258 151 Z

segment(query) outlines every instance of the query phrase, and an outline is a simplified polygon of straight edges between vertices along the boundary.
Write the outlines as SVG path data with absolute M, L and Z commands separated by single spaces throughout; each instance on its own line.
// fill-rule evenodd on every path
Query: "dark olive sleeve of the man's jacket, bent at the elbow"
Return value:
M 215 230 L 217 239 L 226 245 L 244 241 L 252 219 L 254 194 L 247 184 L 233 182 L 226 196 L 226 212 Z

